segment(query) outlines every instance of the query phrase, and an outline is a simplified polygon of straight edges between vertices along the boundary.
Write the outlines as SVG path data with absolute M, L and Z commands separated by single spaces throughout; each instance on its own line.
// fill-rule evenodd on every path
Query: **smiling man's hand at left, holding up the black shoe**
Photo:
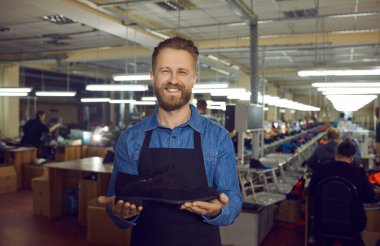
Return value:
M 113 197 L 99 196 L 98 202 L 102 205 L 106 205 L 107 207 L 110 207 L 112 209 L 112 213 L 121 219 L 127 219 L 129 217 L 133 217 L 139 214 L 143 209 L 142 206 L 137 207 L 135 204 L 124 202 L 122 200 L 119 200 L 115 204 L 114 196 Z

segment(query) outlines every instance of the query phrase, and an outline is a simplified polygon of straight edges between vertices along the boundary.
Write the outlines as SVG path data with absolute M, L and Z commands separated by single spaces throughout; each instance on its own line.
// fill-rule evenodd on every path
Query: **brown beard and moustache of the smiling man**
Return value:
M 175 88 L 181 92 L 181 96 L 165 95 L 165 89 Z M 182 108 L 191 98 L 191 89 L 187 89 L 183 84 L 173 84 L 167 82 L 160 87 L 154 86 L 154 94 L 157 97 L 158 105 L 166 111 L 173 111 Z

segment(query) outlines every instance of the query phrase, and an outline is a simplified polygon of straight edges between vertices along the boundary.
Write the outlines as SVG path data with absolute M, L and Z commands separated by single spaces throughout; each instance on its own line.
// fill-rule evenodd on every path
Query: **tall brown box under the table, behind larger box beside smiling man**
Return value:
M 78 186 L 78 221 L 81 225 L 87 224 L 87 204 L 98 197 L 98 183 L 96 180 L 82 179 Z

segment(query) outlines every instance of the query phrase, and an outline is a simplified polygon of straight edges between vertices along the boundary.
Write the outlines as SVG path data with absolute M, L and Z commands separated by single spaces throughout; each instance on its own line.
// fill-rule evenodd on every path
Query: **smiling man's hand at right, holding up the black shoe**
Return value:
M 226 206 L 227 203 L 228 196 L 226 196 L 224 193 L 221 193 L 218 199 L 214 199 L 208 202 L 185 202 L 179 209 L 186 209 L 187 211 L 195 214 L 216 217 L 222 212 L 222 208 Z

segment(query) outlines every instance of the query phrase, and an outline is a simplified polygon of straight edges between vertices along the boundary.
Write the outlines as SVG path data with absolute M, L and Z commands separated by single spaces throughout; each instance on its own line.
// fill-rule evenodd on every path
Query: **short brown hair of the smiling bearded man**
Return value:
M 174 38 L 168 38 L 160 42 L 154 48 L 153 54 L 152 54 L 152 69 L 153 70 L 156 66 L 156 60 L 157 60 L 158 54 L 160 53 L 162 49 L 165 49 L 165 48 L 185 50 L 193 56 L 195 64 L 197 64 L 199 51 L 198 51 L 198 48 L 194 45 L 193 41 L 182 38 L 182 37 L 174 37 Z

